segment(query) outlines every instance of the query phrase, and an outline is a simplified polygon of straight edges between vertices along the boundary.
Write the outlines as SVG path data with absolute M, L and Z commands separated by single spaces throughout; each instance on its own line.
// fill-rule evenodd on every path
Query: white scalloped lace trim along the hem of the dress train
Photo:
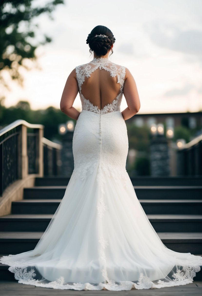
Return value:
M 107 246 L 107 242 L 102 238 L 100 240 L 100 243 L 102 244 L 102 247 L 105 248 Z M 10 257 L 15 255 L 9 255 Z M 0 259 L 0 262 L 7 265 L 13 265 L 12 262 L 9 263 L 9 261 L 6 259 L 9 256 L 3 256 Z M 105 255 L 103 255 L 103 260 L 105 260 Z M 194 258 L 195 260 L 198 259 L 201 263 L 201 256 L 195 256 L 191 255 L 190 257 Z M 25 259 L 22 259 L 22 261 Z M 187 259 L 188 260 L 188 259 Z M 187 261 L 185 260 L 185 261 Z M 20 262 L 19 262 L 20 264 Z M 22 264 L 23 265 L 23 264 Z M 33 279 L 33 277 L 36 276 L 34 273 L 35 270 L 32 268 L 30 271 L 27 271 L 27 268 L 19 267 L 19 266 L 10 266 L 8 270 L 12 273 L 14 273 L 15 279 L 18 281 L 18 283 L 21 284 L 30 284 L 35 285 L 37 287 L 47 287 L 47 288 L 53 288 L 53 289 L 74 289 L 74 290 L 111 290 L 111 291 L 121 291 L 121 290 L 131 290 L 134 289 L 155 289 L 155 288 L 162 288 L 162 287 L 173 287 L 173 286 L 179 286 L 179 285 L 185 285 L 193 282 L 193 277 L 196 276 L 196 272 L 200 271 L 200 266 L 182 266 L 182 270 L 178 269 L 176 273 L 172 275 L 174 277 L 171 281 L 163 281 L 158 280 L 157 283 L 154 283 L 154 281 L 150 281 L 150 279 L 147 276 L 144 276 L 143 273 L 140 274 L 139 280 L 137 283 L 134 283 L 132 281 L 120 281 L 118 284 L 113 280 L 107 280 L 106 283 L 99 283 L 99 284 L 90 284 L 85 283 L 81 284 L 81 282 L 73 283 L 73 284 L 65 284 L 65 280 L 63 276 L 60 276 L 56 281 L 50 281 L 48 283 L 40 283 L 40 280 Z M 102 275 L 105 278 L 107 277 L 107 274 L 105 274 L 105 270 L 102 270 Z

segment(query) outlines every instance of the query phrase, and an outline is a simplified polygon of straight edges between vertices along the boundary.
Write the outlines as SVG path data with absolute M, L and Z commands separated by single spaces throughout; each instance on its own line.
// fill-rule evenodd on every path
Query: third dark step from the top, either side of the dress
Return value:
M 12 214 L 54 214 L 62 199 L 25 199 L 12 202 Z M 202 213 L 202 200 L 139 200 L 146 214 Z

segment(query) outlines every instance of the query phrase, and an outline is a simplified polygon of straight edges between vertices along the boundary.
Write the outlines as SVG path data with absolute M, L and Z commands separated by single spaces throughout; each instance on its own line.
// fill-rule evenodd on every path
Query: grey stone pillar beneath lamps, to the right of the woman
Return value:
M 168 140 L 154 136 L 150 145 L 151 176 L 170 176 L 170 159 Z

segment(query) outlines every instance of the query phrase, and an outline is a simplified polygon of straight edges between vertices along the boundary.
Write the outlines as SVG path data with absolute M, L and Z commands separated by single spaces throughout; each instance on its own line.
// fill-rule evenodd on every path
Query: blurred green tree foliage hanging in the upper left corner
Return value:
M 44 34 L 44 40 L 36 42 L 37 24 L 32 21 L 43 13 L 50 19 L 52 11 L 64 0 L 54 0 L 43 7 L 32 7 L 34 0 L 11 0 L 0 2 L 0 81 L 7 88 L 1 70 L 7 70 L 12 79 L 22 86 L 23 77 L 19 72 L 22 66 L 29 70 L 26 59 L 36 61 L 35 50 L 39 45 L 51 42 L 51 37 Z

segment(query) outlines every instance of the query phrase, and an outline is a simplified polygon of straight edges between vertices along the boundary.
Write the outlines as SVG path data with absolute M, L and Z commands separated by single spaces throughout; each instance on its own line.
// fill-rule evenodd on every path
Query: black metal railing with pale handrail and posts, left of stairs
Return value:
M 57 175 L 61 145 L 43 137 L 44 126 L 16 120 L 0 130 L 0 196 L 28 174 Z

